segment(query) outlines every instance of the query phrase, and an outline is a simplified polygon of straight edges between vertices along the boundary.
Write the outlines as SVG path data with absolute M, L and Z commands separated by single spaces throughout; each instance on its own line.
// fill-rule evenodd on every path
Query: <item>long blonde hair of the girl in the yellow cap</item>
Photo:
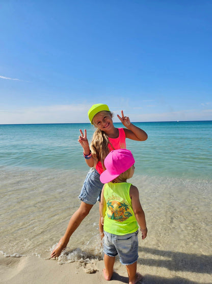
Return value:
M 113 118 L 113 113 L 111 113 L 111 112 L 101 111 L 100 113 Z M 92 122 L 93 122 L 93 120 L 92 120 Z M 103 132 L 102 130 L 100 130 L 94 122 L 93 122 L 93 125 L 97 128 L 96 131 L 93 134 L 93 138 L 92 138 L 91 145 L 90 145 L 92 157 L 94 159 L 94 167 L 96 166 L 98 161 L 100 161 L 103 169 L 105 170 L 104 159 L 106 158 L 106 156 L 110 152 L 110 150 L 108 148 L 108 144 L 110 143 L 110 141 L 109 141 L 108 135 L 105 132 Z

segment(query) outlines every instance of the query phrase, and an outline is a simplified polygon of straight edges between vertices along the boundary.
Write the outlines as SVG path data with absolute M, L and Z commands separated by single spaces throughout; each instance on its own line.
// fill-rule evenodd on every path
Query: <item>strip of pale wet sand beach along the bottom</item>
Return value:
M 143 259 L 139 252 L 138 271 L 144 276 L 139 283 L 211 283 L 212 257 L 142 249 L 152 259 Z M 143 264 L 142 264 L 143 263 Z M 57 260 L 37 256 L 0 256 L 0 281 L 2 283 L 106 283 L 102 269 L 103 260 L 85 264 L 80 261 L 59 265 Z M 157 276 L 160 275 L 160 276 Z M 116 259 L 115 272 L 110 283 L 128 283 L 124 266 Z

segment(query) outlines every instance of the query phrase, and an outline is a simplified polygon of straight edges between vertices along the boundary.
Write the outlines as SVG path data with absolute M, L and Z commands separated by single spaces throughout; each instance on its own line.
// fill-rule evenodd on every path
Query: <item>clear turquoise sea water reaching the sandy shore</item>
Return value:
M 202 279 L 212 272 L 212 121 L 134 124 L 148 134 L 144 142 L 126 139 L 136 160 L 129 182 L 139 188 L 148 225 L 148 237 L 139 241 L 141 261 L 147 270 L 173 261 L 175 273 Z M 91 141 L 95 128 L 88 123 L 0 125 L 0 251 L 6 257 L 47 258 L 64 234 L 89 170 L 77 142 L 85 128 Z M 59 263 L 102 258 L 98 219 L 96 204 Z M 197 260 L 193 271 L 191 259 Z

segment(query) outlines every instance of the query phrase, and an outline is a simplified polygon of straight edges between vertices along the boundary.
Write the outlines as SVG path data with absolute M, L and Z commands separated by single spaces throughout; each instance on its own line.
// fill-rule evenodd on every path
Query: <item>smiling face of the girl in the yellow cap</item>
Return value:
M 113 126 L 112 116 L 108 112 L 99 112 L 93 118 L 93 124 L 102 131 L 107 131 Z

